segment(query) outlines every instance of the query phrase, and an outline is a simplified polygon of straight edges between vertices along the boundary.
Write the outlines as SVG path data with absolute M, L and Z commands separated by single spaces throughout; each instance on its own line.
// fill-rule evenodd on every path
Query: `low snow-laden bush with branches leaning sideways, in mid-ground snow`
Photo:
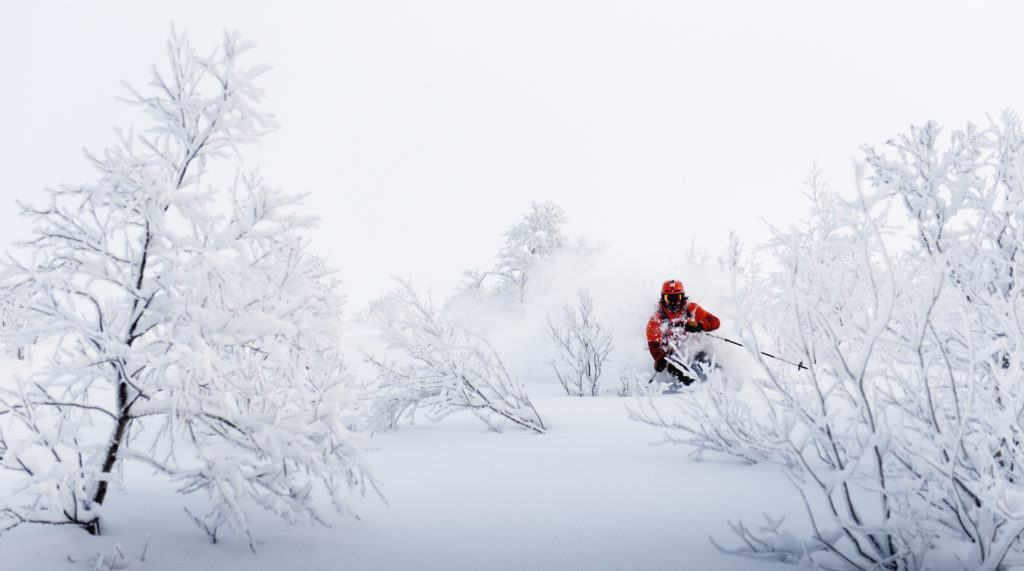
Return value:
M 543 433 L 524 388 L 509 378 L 486 339 L 421 301 L 408 281 L 400 283 L 370 309 L 388 348 L 398 353 L 368 357 L 381 378 L 375 416 L 382 427 L 420 410 L 435 422 L 470 410 L 495 431 L 512 424 Z

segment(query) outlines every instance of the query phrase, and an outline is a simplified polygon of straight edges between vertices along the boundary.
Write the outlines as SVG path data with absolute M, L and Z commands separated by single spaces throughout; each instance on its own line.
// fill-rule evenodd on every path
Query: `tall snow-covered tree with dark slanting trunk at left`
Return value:
M 25 207 L 34 237 L 3 292 L 51 358 L 0 391 L 0 465 L 23 476 L 0 528 L 98 533 L 127 462 L 207 494 L 194 518 L 212 538 L 248 535 L 255 506 L 319 521 L 318 493 L 346 513 L 372 483 L 311 220 L 255 174 L 221 185 L 211 170 L 241 168 L 273 126 L 248 47 L 225 34 L 203 56 L 172 32 L 169 70 L 131 90 L 151 127 L 89 155 L 94 182 Z

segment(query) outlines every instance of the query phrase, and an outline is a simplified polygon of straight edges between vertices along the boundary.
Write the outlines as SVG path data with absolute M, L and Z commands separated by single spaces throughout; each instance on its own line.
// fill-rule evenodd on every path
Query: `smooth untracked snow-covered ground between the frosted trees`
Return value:
M 794 513 L 799 498 L 767 466 L 688 457 L 628 418 L 631 397 L 535 397 L 548 432 L 484 432 L 471 415 L 371 439 L 387 503 L 353 500 L 359 520 L 288 525 L 254 513 L 255 553 L 212 544 L 182 498 L 132 469 L 109 499 L 104 534 L 26 526 L 0 536 L 0 569 L 782 569 L 717 550 L 729 521 Z M 557 387 L 556 387 L 557 388 Z M 558 388 L 560 390 L 560 388 Z M 657 396 L 672 409 L 686 394 Z M 123 554 L 120 561 L 119 552 Z

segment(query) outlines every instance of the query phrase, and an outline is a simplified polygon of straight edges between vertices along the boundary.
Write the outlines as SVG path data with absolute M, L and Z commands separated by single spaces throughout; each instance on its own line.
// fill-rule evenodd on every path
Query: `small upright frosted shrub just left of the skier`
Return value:
M 563 307 L 560 320 L 548 316 L 548 337 L 558 347 L 551 365 L 566 394 L 597 396 L 601 368 L 611 352 L 611 333 L 597 321 L 590 291 L 578 291 L 577 305 Z

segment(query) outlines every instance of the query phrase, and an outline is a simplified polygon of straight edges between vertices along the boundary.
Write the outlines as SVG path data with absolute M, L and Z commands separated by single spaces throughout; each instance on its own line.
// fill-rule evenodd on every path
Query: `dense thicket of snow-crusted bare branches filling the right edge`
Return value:
M 737 551 L 825 567 L 998 569 L 1024 562 L 1024 136 L 1005 114 L 940 140 L 934 124 L 865 147 L 869 191 L 814 178 L 809 222 L 767 245 L 744 342 L 774 339 L 800 371 L 762 362 L 708 386 L 680 440 L 776 462 L 811 535 L 737 524 Z M 912 238 L 889 223 L 905 207 Z

